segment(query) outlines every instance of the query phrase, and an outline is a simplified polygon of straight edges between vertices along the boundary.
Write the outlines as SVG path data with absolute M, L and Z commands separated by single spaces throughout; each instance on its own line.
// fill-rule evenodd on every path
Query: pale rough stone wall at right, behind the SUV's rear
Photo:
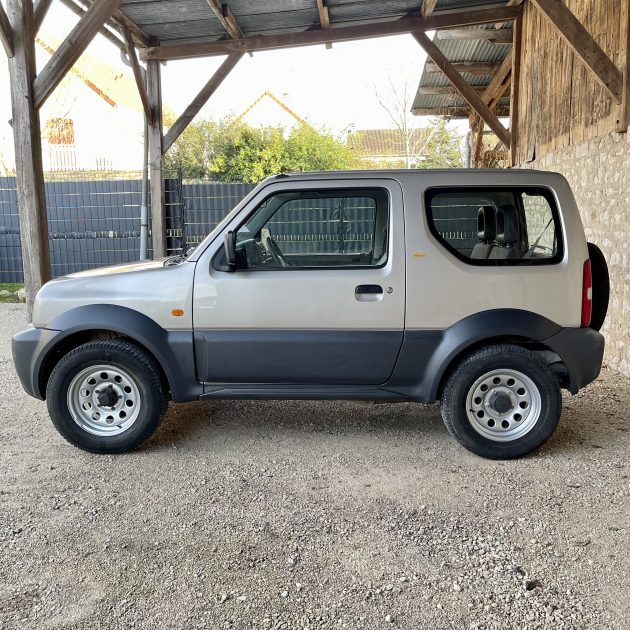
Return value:
M 594 138 L 525 166 L 562 173 L 571 184 L 586 237 L 610 269 L 605 363 L 630 376 L 630 133 Z

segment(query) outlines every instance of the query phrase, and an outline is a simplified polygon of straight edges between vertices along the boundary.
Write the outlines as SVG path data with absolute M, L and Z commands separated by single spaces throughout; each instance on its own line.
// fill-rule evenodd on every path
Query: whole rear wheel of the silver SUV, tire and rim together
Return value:
M 533 352 L 511 344 L 466 358 L 442 396 L 449 433 L 490 459 L 513 459 L 538 448 L 554 432 L 561 411 L 557 378 Z

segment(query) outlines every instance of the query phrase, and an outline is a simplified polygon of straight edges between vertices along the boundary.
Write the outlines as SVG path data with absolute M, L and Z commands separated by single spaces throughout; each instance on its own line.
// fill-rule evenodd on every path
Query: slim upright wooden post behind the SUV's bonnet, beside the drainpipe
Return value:
M 151 179 L 151 239 L 153 258 L 166 256 L 164 207 L 164 158 L 162 149 L 162 81 L 160 62 L 147 62 L 147 92 L 152 120 L 149 125 L 149 173 Z

